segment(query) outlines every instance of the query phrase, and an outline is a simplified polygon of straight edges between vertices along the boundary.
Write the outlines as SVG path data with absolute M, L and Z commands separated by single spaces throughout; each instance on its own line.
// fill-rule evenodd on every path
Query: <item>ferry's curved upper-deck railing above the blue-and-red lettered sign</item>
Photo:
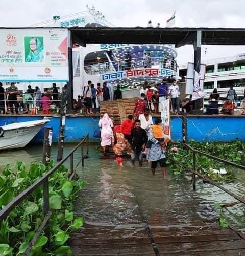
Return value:
M 156 67 L 177 71 L 177 62 L 174 59 L 167 59 L 162 57 L 151 57 L 150 59 L 132 58 L 131 61 L 128 62 L 125 60 L 96 62 L 84 66 L 84 70 L 89 75 L 97 75 L 114 71 Z

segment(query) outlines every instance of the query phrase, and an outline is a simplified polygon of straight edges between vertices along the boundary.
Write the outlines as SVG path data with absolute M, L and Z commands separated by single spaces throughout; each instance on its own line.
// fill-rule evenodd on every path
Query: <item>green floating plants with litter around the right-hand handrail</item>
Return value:
M 193 153 L 183 148 L 182 144 L 178 145 L 178 152 L 174 153 L 169 150 L 169 159 L 174 161 L 169 161 L 170 170 L 173 171 L 175 175 L 181 175 L 186 172 L 186 167 L 193 168 Z M 196 150 L 208 153 L 212 156 L 217 156 L 238 164 L 245 164 L 245 142 L 242 141 L 233 141 L 231 143 L 204 143 L 204 142 L 195 142 L 190 141 L 189 145 L 195 148 Z M 232 168 L 229 165 L 225 165 L 221 162 L 218 162 L 214 159 L 210 159 L 206 156 L 197 154 L 197 171 L 205 175 L 206 177 L 212 179 L 216 182 L 231 182 L 236 177 L 232 172 Z M 219 170 L 220 168 L 225 168 L 227 174 L 219 175 L 215 173 L 213 169 Z

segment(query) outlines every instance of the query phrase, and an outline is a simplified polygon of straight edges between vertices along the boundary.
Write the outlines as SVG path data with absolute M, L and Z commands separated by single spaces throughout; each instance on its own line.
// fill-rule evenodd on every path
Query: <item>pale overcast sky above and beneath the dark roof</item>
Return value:
M 0 26 L 29 26 L 54 15 L 86 11 L 86 4 L 93 4 L 118 27 L 146 26 L 148 20 L 165 27 L 176 10 L 176 27 L 245 28 L 244 0 L 0 0 Z M 177 52 L 180 64 L 193 61 L 192 46 L 181 47 Z M 244 46 L 202 46 L 202 59 L 244 52 Z

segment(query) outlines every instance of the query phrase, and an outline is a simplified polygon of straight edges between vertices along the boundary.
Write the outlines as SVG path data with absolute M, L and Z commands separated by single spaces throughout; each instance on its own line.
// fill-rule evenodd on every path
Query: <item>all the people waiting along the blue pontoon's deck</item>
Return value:
M 176 81 L 174 76 L 164 78 L 161 83 L 156 86 L 150 86 L 145 81 L 142 88 L 139 90 L 139 99 L 135 103 L 134 116 L 142 113 L 142 110 L 147 106 L 151 113 L 159 114 L 159 103 L 165 99 L 170 99 L 171 114 L 180 114 L 182 112 L 190 112 L 194 109 L 194 102 L 191 101 L 190 95 L 180 100 L 179 81 Z M 66 85 L 67 86 L 67 85 Z M 64 87 L 65 88 L 65 87 Z M 63 88 L 63 89 L 64 89 Z M 62 89 L 62 90 L 63 90 Z M 111 99 L 111 92 L 106 82 L 103 82 L 101 87 L 97 83 L 97 87 L 91 81 L 83 87 L 82 96 L 78 95 L 74 99 L 75 113 L 94 114 L 100 111 L 102 101 L 113 100 Z M 243 100 L 240 104 L 240 114 L 245 114 L 245 92 Z M 114 99 L 122 99 L 122 91 L 120 85 L 114 91 Z M 11 112 L 19 114 L 20 111 L 25 114 L 32 114 L 34 109 L 41 110 L 43 113 L 58 113 L 60 109 L 61 94 L 58 91 L 56 83 L 52 84 L 52 91 L 44 88 L 43 93 L 38 86 L 33 89 L 29 84 L 26 92 L 21 93 L 18 87 L 11 82 L 10 86 L 4 89 L 3 84 L 0 82 L 0 113 L 8 114 Z M 220 101 L 223 102 L 222 109 L 220 108 Z M 237 106 L 237 94 L 233 86 L 230 86 L 227 96 L 221 98 L 220 94 L 215 88 L 209 96 L 209 105 L 204 114 L 234 114 L 234 109 Z M 7 111 L 6 111 L 7 110 Z

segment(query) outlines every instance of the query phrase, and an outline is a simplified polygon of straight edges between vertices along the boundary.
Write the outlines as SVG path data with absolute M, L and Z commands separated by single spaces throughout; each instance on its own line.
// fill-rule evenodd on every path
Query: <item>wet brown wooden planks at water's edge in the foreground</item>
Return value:
M 74 255 L 245 255 L 245 241 L 234 230 L 220 229 L 215 222 L 150 226 L 150 231 L 153 241 L 143 224 L 128 229 L 85 224 L 72 237 L 70 246 Z

